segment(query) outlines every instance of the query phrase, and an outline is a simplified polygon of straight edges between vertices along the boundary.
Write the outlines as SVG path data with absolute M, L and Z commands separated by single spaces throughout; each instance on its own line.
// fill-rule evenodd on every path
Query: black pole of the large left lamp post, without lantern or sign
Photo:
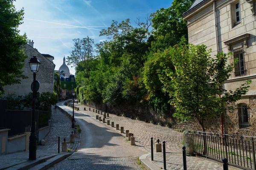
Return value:
M 36 73 L 33 73 L 33 103 L 32 103 L 32 122 L 31 122 L 31 133 L 29 136 L 29 160 L 36 160 L 36 148 L 37 148 L 37 136 L 35 133 L 35 77 Z

